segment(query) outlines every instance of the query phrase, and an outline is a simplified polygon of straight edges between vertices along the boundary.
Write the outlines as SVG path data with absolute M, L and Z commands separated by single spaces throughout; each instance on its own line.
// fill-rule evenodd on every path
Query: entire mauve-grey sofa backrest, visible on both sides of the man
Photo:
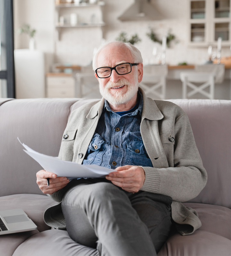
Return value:
M 17 99 L 0 106 L 0 196 L 42 194 L 36 172 L 42 167 L 28 156 L 21 142 L 57 156 L 69 114 L 95 99 Z M 208 182 L 191 202 L 231 208 L 231 101 L 168 100 L 188 114 L 208 172 Z M 1 100 L 0 100 L 1 102 Z

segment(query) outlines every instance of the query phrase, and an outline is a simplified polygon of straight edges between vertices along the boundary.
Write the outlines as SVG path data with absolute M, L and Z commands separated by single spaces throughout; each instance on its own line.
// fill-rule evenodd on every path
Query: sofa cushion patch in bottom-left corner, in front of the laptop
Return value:
M 20 232 L 0 236 L 0 256 L 13 255 L 16 248 L 30 236 L 39 233 L 38 230 Z

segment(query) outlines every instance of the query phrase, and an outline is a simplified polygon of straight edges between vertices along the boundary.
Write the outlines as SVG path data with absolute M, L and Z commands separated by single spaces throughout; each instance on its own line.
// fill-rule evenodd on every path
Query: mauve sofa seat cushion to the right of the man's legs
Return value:
M 173 234 L 158 256 L 223 256 L 231 252 L 231 209 L 223 206 L 184 203 L 195 209 L 201 220 L 201 227 L 192 235 Z

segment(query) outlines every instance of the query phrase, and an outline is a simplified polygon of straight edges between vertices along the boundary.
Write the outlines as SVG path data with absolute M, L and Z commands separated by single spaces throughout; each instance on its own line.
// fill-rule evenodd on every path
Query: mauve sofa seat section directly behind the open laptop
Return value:
M 57 202 L 45 195 L 17 194 L 0 197 L 1 211 L 22 209 L 37 225 L 39 232 L 50 229 L 43 220 L 43 213 L 48 207 L 55 204 L 57 204 Z

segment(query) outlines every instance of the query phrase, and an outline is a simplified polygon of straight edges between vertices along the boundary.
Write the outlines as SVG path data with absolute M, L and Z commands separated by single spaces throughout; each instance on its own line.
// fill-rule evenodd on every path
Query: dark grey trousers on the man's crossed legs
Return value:
M 156 255 L 171 229 L 171 197 L 74 180 L 62 201 L 70 237 L 99 255 Z

